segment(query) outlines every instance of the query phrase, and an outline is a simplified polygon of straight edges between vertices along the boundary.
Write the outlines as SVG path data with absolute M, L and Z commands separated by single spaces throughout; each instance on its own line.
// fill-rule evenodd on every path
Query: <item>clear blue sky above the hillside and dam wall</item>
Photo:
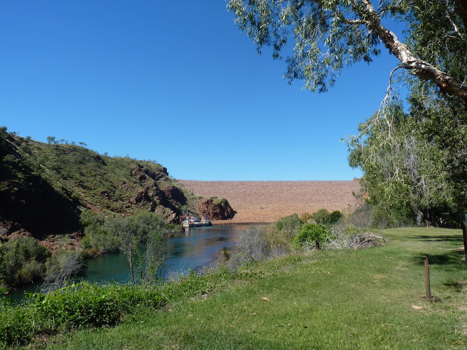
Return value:
M 382 49 L 326 93 L 288 85 L 223 0 L 2 1 L 0 49 L 0 125 L 195 180 L 361 176 L 340 139 L 397 65 Z

